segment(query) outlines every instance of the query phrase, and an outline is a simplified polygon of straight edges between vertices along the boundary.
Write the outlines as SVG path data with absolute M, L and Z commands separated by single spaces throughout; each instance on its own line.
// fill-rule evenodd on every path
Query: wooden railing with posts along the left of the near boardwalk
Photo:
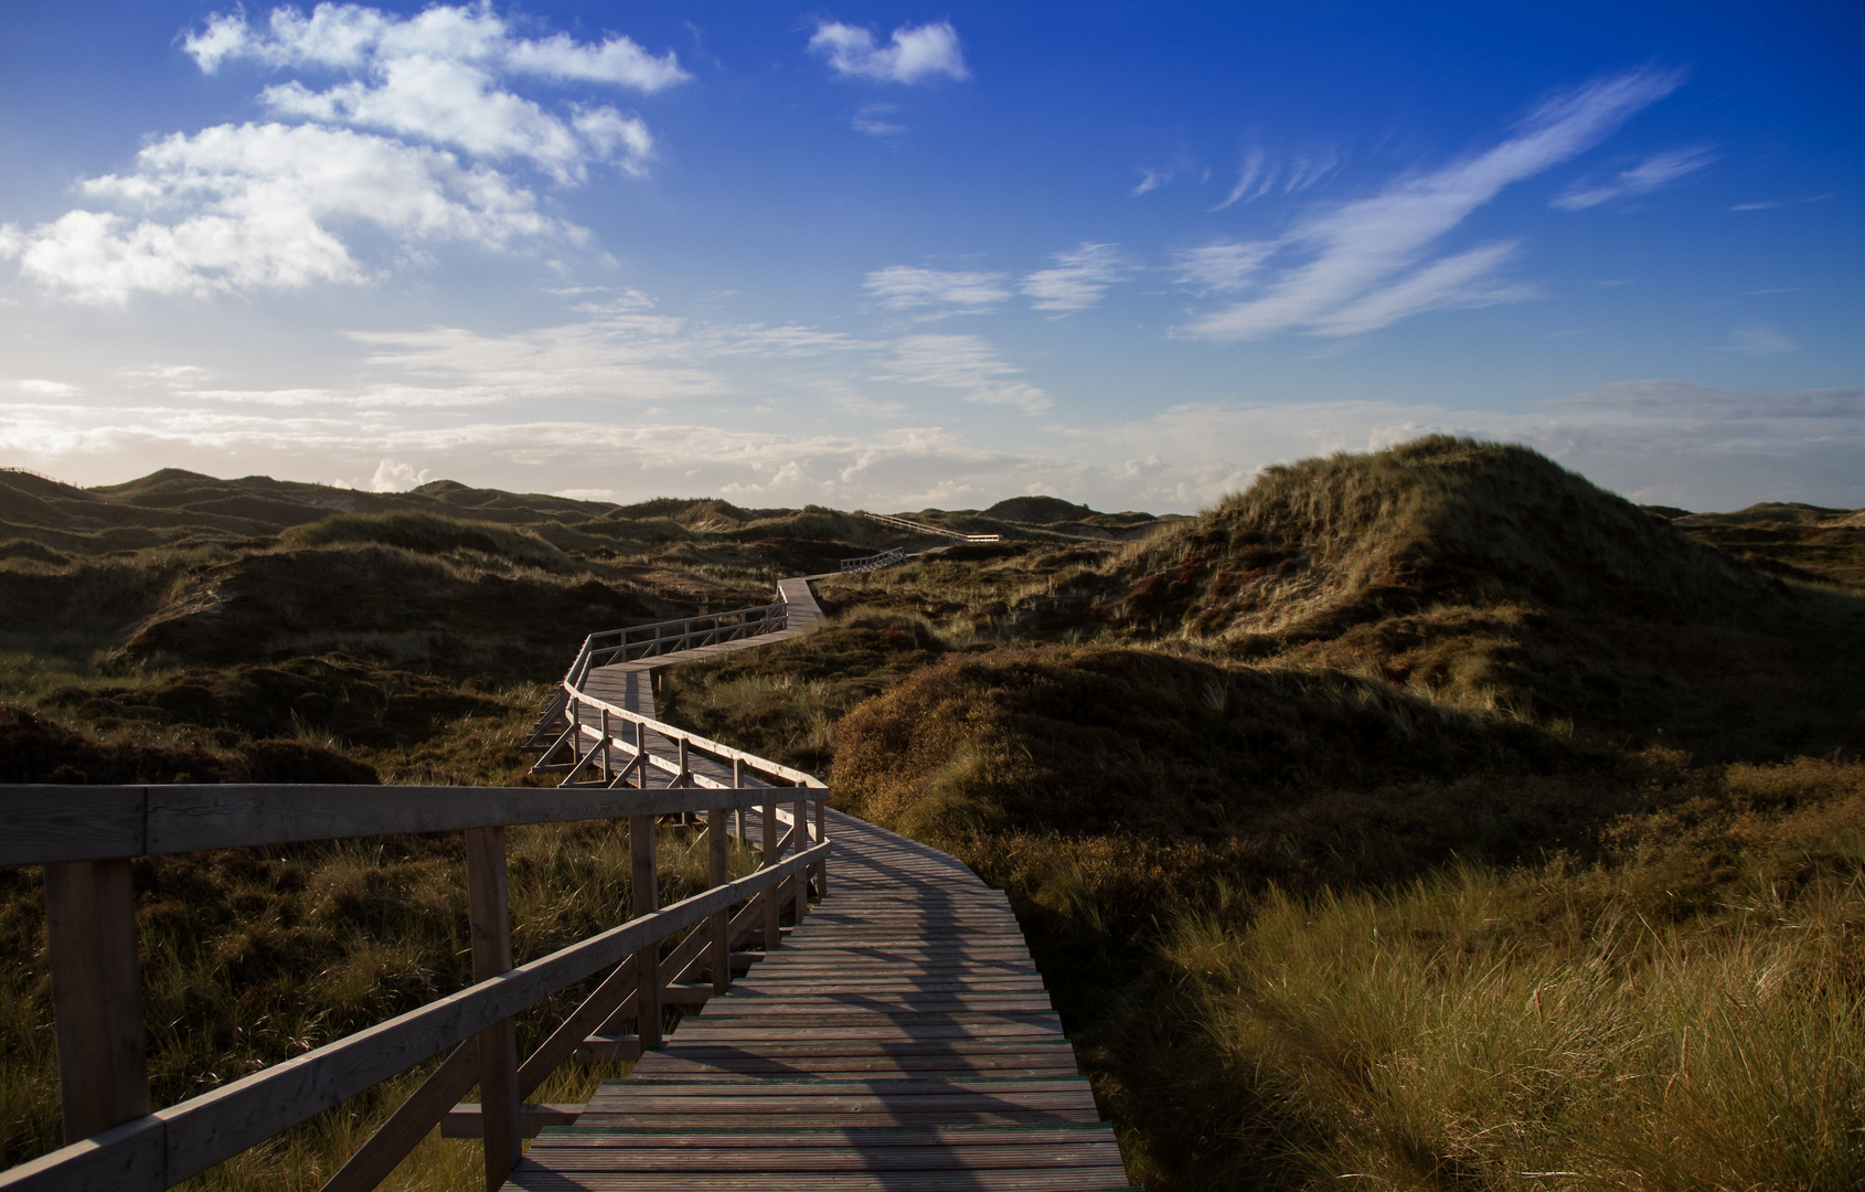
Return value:
M 599 703 L 599 701 L 597 701 Z M 580 724 L 587 701 L 573 703 Z M 731 981 L 733 948 L 753 935 L 781 942 L 778 910 L 808 912 L 808 875 L 826 875 L 821 782 L 679 735 L 681 761 L 668 785 L 649 785 L 645 731 L 679 733 L 645 716 L 601 705 L 634 726 L 634 767 L 587 782 L 589 731 L 560 741 L 545 763 L 578 759 L 556 791 L 535 787 L 338 787 L 338 785 L 17 785 L 0 789 L 0 866 L 45 866 L 60 1099 L 69 1145 L 0 1173 L 0 1188 L 168 1188 L 306 1121 L 423 1060 L 455 1048 L 325 1185 L 373 1188 L 477 1084 L 487 1186 L 518 1158 L 524 1097 L 580 1048 L 630 1041 L 604 1035 L 638 1022 L 634 1046 L 660 1045 L 660 1007 L 711 974 L 712 992 Z M 614 724 L 614 722 L 612 722 Z M 699 750 L 733 765 L 731 785 L 701 780 L 684 765 Z M 608 755 L 610 748 L 602 746 Z M 606 763 L 604 763 L 606 765 Z M 684 772 L 684 774 L 683 774 Z M 629 785 L 632 774 L 634 785 Z M 753 778 L 755 774 L 755 778 Z M 753 785 L 757 783 L 757 785 Z M 780 802 L 789 804 L 780 808 Z M 815 817 L 809 804 L 815 804 Z M 727 817 L 746 836 L 748 808 L 763 810 L 763 864 L 729 880 Z M 656 907 L 655 826 L 660 815 L 705 815 L 711 884 Z M 526 964 L 511 964 L 505 895 L 505 828 L 582 819 L 627 819 L 636 916 Z M 789 825 L 778 836 L 781 825 Z M 201 849 L 282 845 L 405 832 L 464 832 L 474 985 L 272 1065 L 179 1104 L 151 1112 L 136 970 L 131 858 Z M 789 851 L 789 856 L 785 856 Z M 733 908 L 740 907 L 737 914 Z M 703 929 L 699 929 L 703 927 Z M 662 955 L 670 936 L 690 931 Z M 513 1017 L 608 970 L 608 976 L 522 1063 Z M 634 1052 L 638 1054 L 638 1050 Z M 535 1130 L 533 1130 L 535 1132 Z

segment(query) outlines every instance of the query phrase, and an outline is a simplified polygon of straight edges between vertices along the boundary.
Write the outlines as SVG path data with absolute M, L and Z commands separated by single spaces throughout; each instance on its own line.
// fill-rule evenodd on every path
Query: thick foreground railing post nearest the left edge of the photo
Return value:
M 129 862 L 45 866 L 45 927 L 69 1145 L 149 1112 Z

